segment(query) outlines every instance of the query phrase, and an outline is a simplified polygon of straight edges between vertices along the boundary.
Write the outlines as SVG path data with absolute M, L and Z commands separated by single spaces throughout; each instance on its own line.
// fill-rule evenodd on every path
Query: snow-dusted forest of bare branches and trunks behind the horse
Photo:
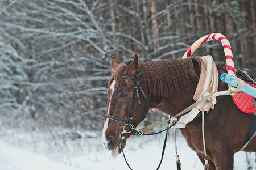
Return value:
M 181 58 L 213 32 L 230 40 L 236 69 L 255 74 L 255 12 L 254 0 L 2 0 L 1 117 L 11 126 L 29 120 L 42 127 L 101 130 L 111 56 L 125 61 L 137 53 L 140 62 Z M 225 62 L 218 41 L 194 56 L 207 54 Z

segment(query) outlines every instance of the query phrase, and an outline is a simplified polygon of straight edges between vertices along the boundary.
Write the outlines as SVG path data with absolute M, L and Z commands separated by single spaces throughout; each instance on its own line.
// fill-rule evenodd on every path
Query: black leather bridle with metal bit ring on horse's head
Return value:
M 139 90 L 141 90 L 142 92 L 142 95 L 144 96 L 144 98 L 147 100 L 147 104 L 148 104 L 148 107 L 150 107 L 150 102 L 149 100 L 147 99 L 147 96 L 146 94 L 144 93 L 142 87 L 141 87 L 141 84 L 139 83 L 139 76 L 141 75 L 141 70 L 138 68 L 137 70 L 137 73 L 135 73 L 135 76 L 132 77 L 132 76 L 122 76 L 122 79 L 125 79 L 125 80 L 134 80 L 134 90 L 133 90 L 133 103 L 131 104 L 131 113 L 130 113 L 130 116 L 127 118 L 127 120 L 124 120 L 122 118 L 119 118 L 119 117 L 115 117 L 115 116 L 111 116 L 109 114 L 105 114 L 105 118 L 109 118 L 111 120 L 114 120 L 114 121 L 118 121 L 118 122 L 122 122 L 123 124 L 125 124 L 123 126 L 123 132 L 122 134 L 124 133 L 131 133 L 134 129 L 134 125 L 131 124 L 131 120 L 133 120 L 133 112 L 134 112 L 134 106 L 135 106 L 135 101 L 136 99 L 138 100 L 138 103 L 141 104 L 141 100 L 139 100 Z M 139 90 L 138 90 L 139 88 Z M 125 126 L 128 125 L 130 128 L 131 128 L 131 131 L 126 131 L 125 130 Z M 137 131 L 137 130 L 135 130 Z

